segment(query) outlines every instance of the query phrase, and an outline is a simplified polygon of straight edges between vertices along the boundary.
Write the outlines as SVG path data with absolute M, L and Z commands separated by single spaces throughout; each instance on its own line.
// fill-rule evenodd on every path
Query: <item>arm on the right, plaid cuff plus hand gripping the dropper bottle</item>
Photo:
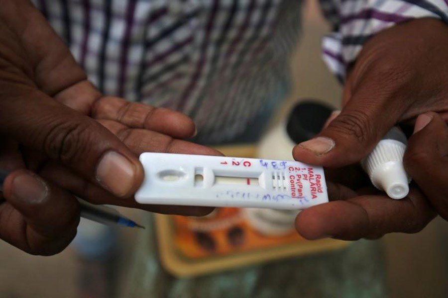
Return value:
M 333 56 L 340 62 L 339 74 L 345 75 L 343 107 L 315 139 L 293 151 L 297 160 L 328 168 L 333 202 L 300 213 L 296 227 L 310 239 L 416 232 L 434 218 L 434 201 L 445 200 L 427 191 L 438 187 L 438 179 L 420 177 L 405 199 L 392 200 L 363 179 L 365 174 L 359 174 L 356 165 L 392 126 L 413 124 L 427 111 L 448 120 L 448 5 L 392 0 L 342 3 Z M 381 4 L 379 8 L 375 3 Z M 369 17 L 356 7 L 367 9 Z M 397 15 L 409 19 L 401 18 L 398 24 L 386 21 Z M 411 166 L 408 160 L 407 167 Z M 437 168 L 428 170 L 439 177 Z

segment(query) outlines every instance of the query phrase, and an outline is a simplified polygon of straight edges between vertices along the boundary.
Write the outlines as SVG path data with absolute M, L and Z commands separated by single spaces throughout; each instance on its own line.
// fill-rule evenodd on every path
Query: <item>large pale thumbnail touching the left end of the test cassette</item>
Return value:
M 135 168 L 123 155 L 107 152 L 97 167 L 97 180 L 118 197 L 129 193 L 134 185 Z

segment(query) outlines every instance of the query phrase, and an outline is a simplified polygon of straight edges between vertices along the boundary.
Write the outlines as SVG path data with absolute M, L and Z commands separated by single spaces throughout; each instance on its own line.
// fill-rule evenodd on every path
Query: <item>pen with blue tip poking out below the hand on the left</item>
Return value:
M 4 179 L 6 179 L 6 176 L 8 175 L 8 172 L 0 170 L 0 191 L 3 187 Z M 91 203 L 88 203 L 80 198 L 78 198 L 78 202 L 81 208 L 81 217 L 100 223 L 100 224 L 108 224 L 108 225 L 120 225 L 120 226 L 127 226 L 127 227 L 140 227 L 145 228 L 142 225 L 136 224 L 134 221 L 124 217 L 121 215 L 118 211 L 115 209 L 104 206 L 104 205 L 94 205 Z

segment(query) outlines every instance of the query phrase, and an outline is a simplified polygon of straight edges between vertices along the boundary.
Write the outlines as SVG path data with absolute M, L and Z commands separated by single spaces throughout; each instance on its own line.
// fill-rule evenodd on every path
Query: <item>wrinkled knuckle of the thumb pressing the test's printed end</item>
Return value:
M 354 137 L 361 143 L 375 133 L 370 118 L 364 111 L 350 111 L 350 113 L 340 114 L 332 121 L 329 129 L 341 135 Z

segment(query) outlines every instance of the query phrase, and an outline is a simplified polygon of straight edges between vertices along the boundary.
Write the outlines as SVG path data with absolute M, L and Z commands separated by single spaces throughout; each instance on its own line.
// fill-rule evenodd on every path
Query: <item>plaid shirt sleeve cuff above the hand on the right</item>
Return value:
M 377 32 L 416 18 L 448 23 L 448 0 L 320 0 L 333 31 L 322 41 L 323 59 L 343 80 L 347 66 Z

